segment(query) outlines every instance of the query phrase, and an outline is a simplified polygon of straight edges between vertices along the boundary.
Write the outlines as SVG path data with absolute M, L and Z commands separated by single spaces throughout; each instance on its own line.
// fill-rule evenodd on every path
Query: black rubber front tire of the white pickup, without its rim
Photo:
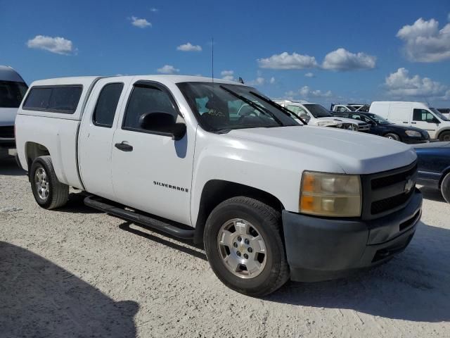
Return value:
M 233 219 L 255 225 L 265 246 L 265 265 L 255 277 L 238 277 L 226 267 L 221 256 L 218 236 L 221 227 Z M 233 197 L 219 204 L 205 225 L 205 251 L 214 273 L 227 287 L 249 296 L 265 296 L 281 287 L 290 276 L 285 257 L 281 214 L 261 201 L 245 196 Z M 250 252 L 250 251 L 249 251 Z

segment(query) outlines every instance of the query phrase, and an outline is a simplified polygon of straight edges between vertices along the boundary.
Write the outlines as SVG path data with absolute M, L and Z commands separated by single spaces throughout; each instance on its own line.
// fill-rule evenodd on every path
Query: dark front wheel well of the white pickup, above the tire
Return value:
M 221 202 L 235 196 L 247 196 L 252 199 L 257 199 L 277 211 L 284 209 L 279 199 L 263 190 L 235 182 L 210 180 L 203 187 L 202 196 L 200 197 L 200 208 L 197 223 L 195 224 L 195 243 L 203 242 L 203 230 L 205 229 L 205 223 L 211 211 Z

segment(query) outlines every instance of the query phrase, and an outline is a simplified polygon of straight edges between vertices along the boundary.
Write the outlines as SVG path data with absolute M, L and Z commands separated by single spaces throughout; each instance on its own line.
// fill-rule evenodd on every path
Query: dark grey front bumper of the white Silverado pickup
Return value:
M 283 211 L 291 280 L 331 280 L 387 261 L 411 242 L 421 214 L 418 189 L 403 209 L 374 220 L 318 218 Z

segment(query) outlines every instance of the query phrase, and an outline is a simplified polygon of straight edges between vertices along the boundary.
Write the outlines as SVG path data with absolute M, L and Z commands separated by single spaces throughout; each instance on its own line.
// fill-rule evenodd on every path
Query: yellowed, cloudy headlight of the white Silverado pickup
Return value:
M 300 187 L 300 213 L 330 217 L 361 215 L 359 175 L 304 171 Z

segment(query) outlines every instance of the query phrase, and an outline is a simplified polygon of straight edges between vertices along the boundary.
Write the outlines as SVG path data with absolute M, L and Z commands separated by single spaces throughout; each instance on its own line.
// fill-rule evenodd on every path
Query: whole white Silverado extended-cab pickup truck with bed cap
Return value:
M 225 80 L 67 77 L 33 82 L 15 128 L 39 206 L 82 189 L 89 206 L 203 242 L 222 282 L 262 296 L 387 261 L 421 215 L 409 146 L 290 116 Z

